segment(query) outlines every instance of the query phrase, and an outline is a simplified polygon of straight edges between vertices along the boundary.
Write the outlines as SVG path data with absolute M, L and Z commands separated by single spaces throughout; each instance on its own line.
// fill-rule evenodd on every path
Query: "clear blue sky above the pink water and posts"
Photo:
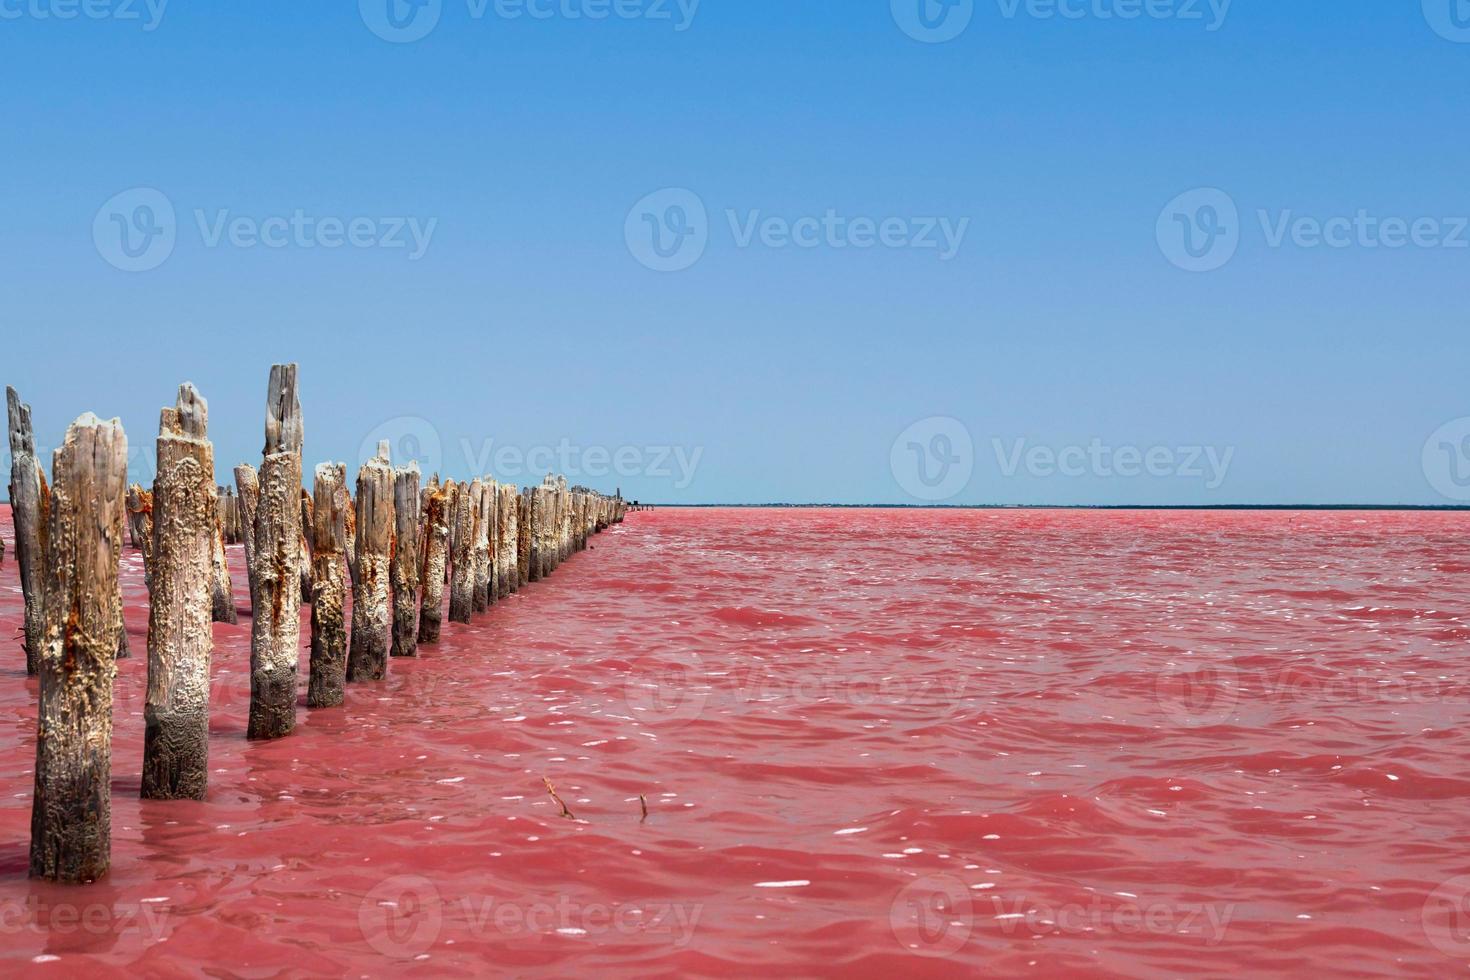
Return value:
M 1198 21 L 975 0 L 947 43 L 906 34 L 889 0 L 703 0 L 692 19 L 604 0 L 642 16 L 601 21 L 566 15 L 598 0 L 538 0 L 545 19 L 441 0 L 412 43 L 369 29 L 391 34 L 388 0 L 173 0 L 153 29 L 144 0 L 88 1 L 109 16 L 0 1 L 0 373 L 46 447 L 88 410 L 151 447 L 188 379 L 226 480 L 259 463 L 269 364 L 297 360 L 309 470 L 356 464 L 388 423 L 454 478 L 466 445 L 497 469 L 490 439 L 625 448 L 626 475 L 587 482 L 667 502 L 919 502 L 948 463 L 964 479 L 931 497 L 956 504 L 1455 502 L 1421 453 L 1470 416 L 1470 248 L 1273 247 L 1258 217 L 1455 238 L 1470 10 L 1449 0 L 1438 29 L 1438 0 L 1236 0 L 1219 24 L 1208 0 L 1150 0 Z M 175 210 L 146 272 L 98 247 L 137 217 L 134 188 Z M 631 209 L 663 188 L 707 209 L 704 253 L 675 272 L 629 245 Z M 1208 272 L 1161 247 L 1195 188 L 1239 213 Z M 416 259 L 407 231 L 403 248 L 210 244 L 220 212 L 298 210 L 370 219 L 373 241 L 435 223 Z M 948 259 L 741 244 L 753 212 L 829 210 L 969 223 Z M 931 417 L 973 451 L 935 444 L 956 423 Z M 1036 447 L 1172 461 L 1014 464 Z M 1216 486 L 1204 463 L 1176 472 L 1189 447 L 1230 454 Z M 914 494 L 904 467 L 929 453 Z

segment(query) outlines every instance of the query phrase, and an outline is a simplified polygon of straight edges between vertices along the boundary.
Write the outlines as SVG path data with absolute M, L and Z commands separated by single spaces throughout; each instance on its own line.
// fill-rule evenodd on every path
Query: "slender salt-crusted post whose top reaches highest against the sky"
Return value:
M 273 364 L 266 392 L 266 447 L 250 567 L 250 724 L 245 735 L 251 739 L 276 739 L 295 727 L 301 642 L 301 442 L 297 366 Z

